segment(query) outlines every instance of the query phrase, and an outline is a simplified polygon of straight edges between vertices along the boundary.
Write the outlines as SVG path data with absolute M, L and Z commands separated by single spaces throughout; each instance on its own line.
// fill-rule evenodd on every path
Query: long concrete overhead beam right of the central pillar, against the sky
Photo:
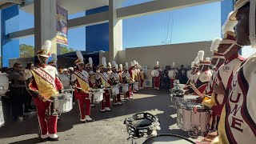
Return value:
M 118 9 L 118 19 L 134 18 L 158 12 L 178 10 L 190 6 L 198 6 L 210 2 L 222 0 L 155 0 L 144 2 L 134 6 L 126 6 Z

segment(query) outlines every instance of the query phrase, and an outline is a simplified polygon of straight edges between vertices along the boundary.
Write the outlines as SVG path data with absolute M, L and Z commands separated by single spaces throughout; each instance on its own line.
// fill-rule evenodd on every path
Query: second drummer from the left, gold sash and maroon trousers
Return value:
M 91 122 L 90 118 L 90 85 L 89 74 L 84 70 L 85 64 L 81 51 L 76 51 L 78 59 L 74 62 L 78 69 L 71 74 L 71 82 L 74 84 L 74 97 L 78 100 L 81 122 Z M 86 109 L 84 109 L 86 105 Z

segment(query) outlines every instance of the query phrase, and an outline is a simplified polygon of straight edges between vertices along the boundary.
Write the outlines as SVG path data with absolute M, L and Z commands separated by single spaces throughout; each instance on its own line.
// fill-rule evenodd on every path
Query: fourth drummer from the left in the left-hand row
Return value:
M 118 64 L 116 62 L 112 62 L 112 73 L 110 74 L 110 85 L 114 88 L 112 89 L 114 91 L 115 96 L 113 97 L 114 106 L 122 105 L 121 103 L 121 94 L 119 91 L 119 74 L 118 74 Z

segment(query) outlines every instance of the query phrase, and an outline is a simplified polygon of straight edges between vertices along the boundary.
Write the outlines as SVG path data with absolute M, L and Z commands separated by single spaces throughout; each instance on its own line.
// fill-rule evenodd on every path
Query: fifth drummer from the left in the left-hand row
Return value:
M 133 99 L 131 97 L 131 88 L 130 88 L 131 78 L 128 71 L 128 62 L 126 62 L 126 66 L 124 67 L 124 72 L 122 73 L 122 83 L 123 83 L 122 88 L 124 90 L 125 100 Z

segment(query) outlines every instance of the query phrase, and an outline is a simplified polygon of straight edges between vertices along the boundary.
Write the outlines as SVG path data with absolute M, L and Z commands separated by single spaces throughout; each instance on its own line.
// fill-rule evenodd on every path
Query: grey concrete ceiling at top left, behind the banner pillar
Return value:
M 101 6 L 108 6 L 109 0 L 57 0 L 57 3 L 68 10 L 69 14 L 75 14 Z M 34 14 L 34 0 L 26 0 L 20 8 L 27 13 Z

